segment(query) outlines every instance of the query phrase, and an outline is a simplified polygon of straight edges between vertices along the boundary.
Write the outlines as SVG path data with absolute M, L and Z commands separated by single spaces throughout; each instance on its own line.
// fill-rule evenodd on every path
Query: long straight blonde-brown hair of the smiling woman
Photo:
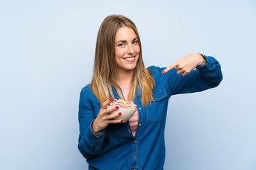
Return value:
M 117 30 L 122 27 L 132 28 L 137 35 L 138 44 L 140 48 L 139 58 L 137 65 L 134 69 L 134 74 L 130 82 L 130 89 L 128 94 L 128 101 L 132 101 L 135 92 L 141 91 L 142 105 L 146 106 L 151 103 L 152 91 L 155 85 L 154 79 L 142 60 L 142 44 L 139 38 L 139 33 L 134 23 L 124 16 L 107 16 L 102 22 L 99 32 L 97 34 L 96 50 L 95 50 L 95 63 L 93 67 L 91 89 L 92 93 L 97 97 L 100 103 L 107 101 L 107 98 L 113 98 L 112 86 L 117 91 L 119 98 L 123 98 L 122 91 L 117 84 L 118 72 L 117 63 L 115 62 L 115 36 Z M 102 77 L 105 92 L 100 83 L 100 76 Z

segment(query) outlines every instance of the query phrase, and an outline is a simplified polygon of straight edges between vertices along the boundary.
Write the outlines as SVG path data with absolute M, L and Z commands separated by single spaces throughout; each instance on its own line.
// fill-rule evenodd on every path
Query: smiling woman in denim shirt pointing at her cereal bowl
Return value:
M 167 68 L 146 69 L 134 23 L 124 16 L 105 18 L 97 35 L 92 81 L 80 93 L 78 148 L 89 169 L 163 169 L 169 98 L 213 88 L 221 80 L 218 61 L 198 53 Z M 127 123 L 114 119 L 122 113 L 109 114 L 118 109 L 107 109 L 114 98 L 137 105 Z

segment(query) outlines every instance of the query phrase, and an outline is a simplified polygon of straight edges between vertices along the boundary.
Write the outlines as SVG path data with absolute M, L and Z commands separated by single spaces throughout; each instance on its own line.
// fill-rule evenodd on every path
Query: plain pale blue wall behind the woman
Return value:
M 0 169 L 87 169 L 79 94 L 114 13 L 137 25 L 146 66 L 193 52 L 222 65 L 218 88 L 171 97 L 165 169 L 256 169 L 254 0 L 1 1 Z

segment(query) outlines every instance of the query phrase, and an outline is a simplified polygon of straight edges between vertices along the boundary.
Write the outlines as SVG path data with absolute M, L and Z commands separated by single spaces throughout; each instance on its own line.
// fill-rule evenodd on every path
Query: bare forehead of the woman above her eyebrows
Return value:
M 122 27 L 117 30 L 115 40 L 133 40 L 134 38 L 137 38 L 137 35 L 132 28 Z

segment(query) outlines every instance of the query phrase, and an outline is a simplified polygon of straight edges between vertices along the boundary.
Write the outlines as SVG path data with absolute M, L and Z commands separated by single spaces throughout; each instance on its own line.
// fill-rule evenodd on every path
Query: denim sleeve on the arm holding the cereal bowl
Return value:
M 85 88 L 80 92 L 78 120 L 80 135 L 78 140 L 78 149 L 86 159 L 97 157 L 102 148 L 102 142 L 105 137 L 105 130 L 99 135 L 92 132 L 92 123 L 95 120 L 94 108 L 85 94 Z

